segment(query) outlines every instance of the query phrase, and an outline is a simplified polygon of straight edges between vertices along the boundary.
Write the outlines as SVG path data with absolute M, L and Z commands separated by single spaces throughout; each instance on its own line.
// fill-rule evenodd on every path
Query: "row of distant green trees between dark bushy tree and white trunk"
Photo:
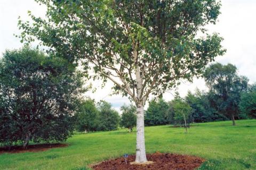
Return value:
M 80 104 L 80 109 L 76 115 L 76 129 L 79 132 L 111 131 L 117 130 L 118 126 L 132 131 L 136 125 L 136 107 L 133 105 L 123 105 L 122 115 L 111 107 L 106 101 L 96 104 L 94 100 L 88 98 Z

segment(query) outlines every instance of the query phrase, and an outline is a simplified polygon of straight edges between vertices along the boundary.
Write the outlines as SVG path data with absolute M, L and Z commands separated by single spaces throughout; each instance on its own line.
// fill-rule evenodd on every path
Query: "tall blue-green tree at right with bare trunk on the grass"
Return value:
M 220 113 L 229 116 L 235 125 L 240 96 L 247 88 L 248 79 L 237 75 L 235 65 L 220 63 L 210 65 L 204 77 L 210 88 L 211 105 Z

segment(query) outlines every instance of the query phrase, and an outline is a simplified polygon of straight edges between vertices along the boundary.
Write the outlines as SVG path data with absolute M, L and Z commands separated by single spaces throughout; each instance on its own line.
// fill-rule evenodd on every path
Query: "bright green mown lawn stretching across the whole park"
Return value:
M 183 128 L 170 125 L 145 129 L 147 152 L 172 152 L 205 158 L 199 169 L 256 169 L 256 120 L 193 124 Z M 0 155 L 0 169 L 87 169 L 104 159 L 134 154 L 135 132 L 76 134 L 69 147 L 43 152 Z

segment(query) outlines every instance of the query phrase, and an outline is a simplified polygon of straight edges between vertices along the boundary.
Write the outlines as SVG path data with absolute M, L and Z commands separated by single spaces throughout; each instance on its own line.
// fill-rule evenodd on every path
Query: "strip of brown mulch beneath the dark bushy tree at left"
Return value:
M 67 144 L 60 144 L 60 143 L 51 143 L 51 144 L 37 144 L 37 145 L 29 145 L 27 149 L 23 149 L 22 146 L 13 146 L 11 149 L 6 147 L 0 147 L 0 154 L 4 153 L 22 153 L 22 152 L 39 152 L 45 151 L 51 148 L 60 148 L 60 147 L 67 147 Z

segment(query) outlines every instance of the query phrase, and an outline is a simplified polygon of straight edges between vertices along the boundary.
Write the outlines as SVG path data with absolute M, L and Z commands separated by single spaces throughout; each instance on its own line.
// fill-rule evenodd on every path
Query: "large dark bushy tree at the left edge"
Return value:
M 0 142 L 63 141 L 73 133 L 80 77 L 61 58 L 28 47 L 0 60 Z

